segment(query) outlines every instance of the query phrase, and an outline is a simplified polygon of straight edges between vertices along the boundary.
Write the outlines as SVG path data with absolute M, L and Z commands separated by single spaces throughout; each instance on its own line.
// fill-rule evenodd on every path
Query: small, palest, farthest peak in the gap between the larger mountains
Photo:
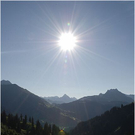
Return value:
M 48 101 L 49 103 L 53 103 L 53 104 L 62 104 L 62 103 L 70 103 L 73 102 L 75 100 L 77 100 L 75 97 L 70 98 L 68 95 L 64 94 L 62 97 L 44 97 L 44 99 L 46 101 Z

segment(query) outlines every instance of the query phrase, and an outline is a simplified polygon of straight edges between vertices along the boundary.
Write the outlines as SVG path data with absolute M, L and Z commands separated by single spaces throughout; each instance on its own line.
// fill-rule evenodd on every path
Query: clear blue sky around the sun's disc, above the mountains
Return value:
M 134 92 L 134 3 L 3 2 L 1 79 L 39 96 Z M 62 32 L 77 39 L 62 51 Z

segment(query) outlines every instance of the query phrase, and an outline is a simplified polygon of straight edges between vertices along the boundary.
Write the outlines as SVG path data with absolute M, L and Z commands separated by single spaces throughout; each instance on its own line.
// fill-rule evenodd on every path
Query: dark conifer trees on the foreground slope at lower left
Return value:
M 37 120 L 34 124 L 34 118 L 27 115 L 1 113 L 1 135 L 60 135 L 60 129 L 55 124 L 41 125 Z M 65 132 L 63 131 L 63 134 Z

